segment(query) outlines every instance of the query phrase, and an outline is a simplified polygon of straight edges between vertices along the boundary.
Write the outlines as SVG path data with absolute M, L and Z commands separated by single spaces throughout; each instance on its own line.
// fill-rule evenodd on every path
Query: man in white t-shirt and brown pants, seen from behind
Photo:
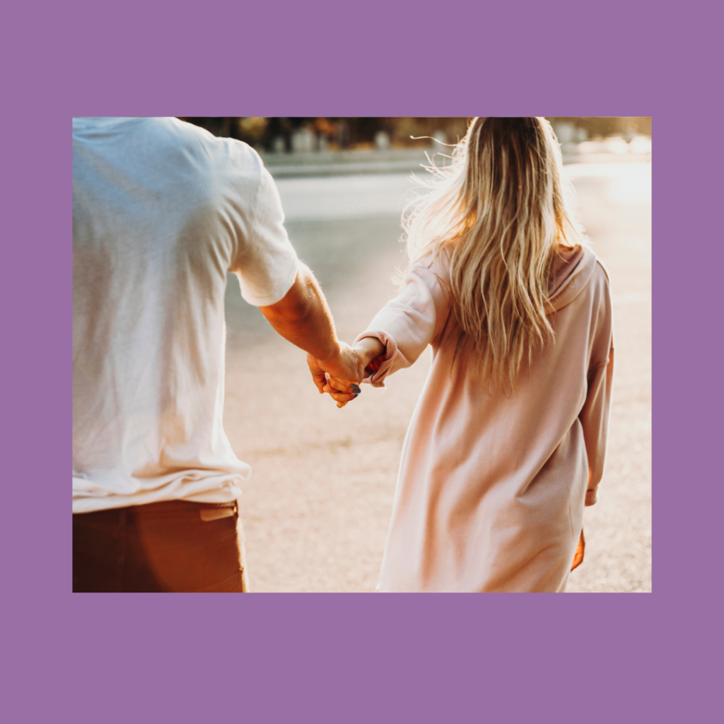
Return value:
M 258 154 L 177 119 L 73 120 L 73 590 L 246 590 L 224 291 L 361 379 Z

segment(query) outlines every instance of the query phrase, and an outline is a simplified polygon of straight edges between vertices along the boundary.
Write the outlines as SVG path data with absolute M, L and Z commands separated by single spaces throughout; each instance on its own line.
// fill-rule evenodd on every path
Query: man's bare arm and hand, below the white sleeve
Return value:
M 307 353 L 307 363 L 319 392 L 327 382 L 325 372 L 360 382 L 356 353 L 337 339 L 332 313 L 311 270 L 298 265 L 297 277 L 284 298 L 266 307 L 259 307 L 274 329 L 293 345 Z

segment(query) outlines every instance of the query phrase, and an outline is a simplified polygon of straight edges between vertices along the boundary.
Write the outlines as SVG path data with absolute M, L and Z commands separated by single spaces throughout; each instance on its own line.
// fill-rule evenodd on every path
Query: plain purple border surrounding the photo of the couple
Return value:
M 719 172 L 682 137 L 716 135 L 697 118 L 716 85 L 713 76 L 707 85 L 713 56 L 702 54 L 717 45 L 705 34 L 718 25 L 700 18 L 687 35 L 664 9 L 654 17 L 620 2 L 591 12 L 520 4 L 507 15 L 460 3 L 317 2 L 266 16 L 262 5 L 230 3 L 77 7 L 29 7 L 27 24 L 13 9 L 6 27 L 17 35 L 2 51 L 12 75 L 0 290 L 8 720 L 708 720 L 713 668 L 702 673 L 699 636 L 715 598 L 697 602 L 696 592 L 716 576 L 698 547 L 701 508 L 714 506 L 708 490 L 695 513 L 682 498 L 721 479 L 705 454 L 720 423 L 675 374 L 691 366 L 692 350 L 717 358 L 721 346 L 686 308 L 714 302 L 716 287 L 704 282 L 719 266 L 710 240 L 720 231 L 700 210 L 715 208 Z M 72 597 L 62 483 L 70 117 L 531 112 L 654 117 L 656 593 Z M 702 251 L 704 271 L 691 258 Z

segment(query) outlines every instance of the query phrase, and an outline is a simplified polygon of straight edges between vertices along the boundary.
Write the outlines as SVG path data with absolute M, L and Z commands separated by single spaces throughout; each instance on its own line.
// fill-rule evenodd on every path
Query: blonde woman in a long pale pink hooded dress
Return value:
M 473 119 L 450 167 L 431 170 L 405 219 L 400 295 L 354 345 L 374 387 L 433 348 L 379 589 L 563 592 L 604 466 L 607 273 L 571 213 L 545 119 Z M 324 387 L 340 406 L 357 390 Z

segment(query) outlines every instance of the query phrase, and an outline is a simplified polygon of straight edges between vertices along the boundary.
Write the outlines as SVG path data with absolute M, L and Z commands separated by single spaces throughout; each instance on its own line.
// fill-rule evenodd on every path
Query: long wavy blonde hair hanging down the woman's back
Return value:
M 521 363 L 552 339 L 548 285 L 558 248 L 584 243 L 560 146 L 544 118 L 475 118 L 451 163 L 403 216 L 408 258 L 450 248 L 455 359 L 513 389 Z

